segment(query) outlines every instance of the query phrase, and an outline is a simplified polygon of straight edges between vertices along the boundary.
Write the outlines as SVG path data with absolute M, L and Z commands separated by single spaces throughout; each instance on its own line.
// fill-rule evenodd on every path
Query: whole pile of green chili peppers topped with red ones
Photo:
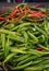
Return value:
M 0 15 L 3 71 L 49 71 L 49 9 L 21 3 Z

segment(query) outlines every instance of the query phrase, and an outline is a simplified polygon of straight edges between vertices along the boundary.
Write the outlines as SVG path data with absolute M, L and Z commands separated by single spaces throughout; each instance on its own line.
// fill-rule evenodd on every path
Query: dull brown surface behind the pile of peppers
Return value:
M 5 3 L 5 2 L 0 2 L 0 13 L 7 12 L 9 11 L 9 9 L 17 5 L 19 3 Z M 33 2 L 33 3 L 28 3 L 29 5 L 36 5 L 36 4 L 40 4 L 39 7 L 41 8 L 49 8 L 49 2 Z

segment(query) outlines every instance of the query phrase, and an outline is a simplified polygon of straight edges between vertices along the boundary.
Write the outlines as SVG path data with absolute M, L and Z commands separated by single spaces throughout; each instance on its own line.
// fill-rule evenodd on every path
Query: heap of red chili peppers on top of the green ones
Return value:
M 25 15 L 25 13 L 27 14 L 27 19 L 28 17 L 37 17 L 37 19 L 42 19 L 46 17 L 47 15 L 44 13 L 44 11 L 39 11 L 37 8 L 37 10 L 34 9 L 29 9 L 27 7 L 27 4 L 23 5 L 21 4 L 21 7 L 19 5 L 17 8 L 13 8 L 12 13 L 8 16 L 9 19 L 21 19 Z M 41 10 L 41 9 L 40 9 Z M 48 11 L 49 13 L 49 11 Z M 0 17 L 0 20 L 7 20 L 7 17 Z

